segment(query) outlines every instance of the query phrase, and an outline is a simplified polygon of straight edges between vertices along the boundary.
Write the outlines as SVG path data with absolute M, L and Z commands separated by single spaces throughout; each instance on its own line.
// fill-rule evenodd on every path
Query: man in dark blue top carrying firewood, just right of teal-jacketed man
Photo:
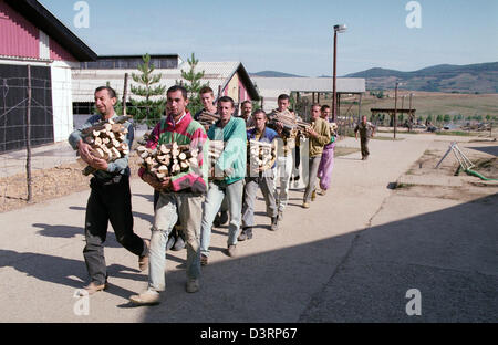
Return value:
M 267 127 L 267 114 L 258 109 L 252 115 L 256 127 L 247 130 L 249 142 L 249 174 L 246 177 L 245 197 L 242 206 L 242 232 L 238 240 L 245 241 L 252 238 L 255 226 L 255 203 L 258 188 L 267 203 L 267 216 L 271 218 L 271 230 L 278 230 L 278 210 L 274 192 L 274 176 L 272 167 L 277 160 L 276 138 L 277 132 Z M 260 145 L 262 147 L 260 147 Z

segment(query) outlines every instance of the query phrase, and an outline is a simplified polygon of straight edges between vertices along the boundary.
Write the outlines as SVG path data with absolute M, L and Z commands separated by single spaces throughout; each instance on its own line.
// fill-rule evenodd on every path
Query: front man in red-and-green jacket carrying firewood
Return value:
M 185 167 L 176 163 L 170 170 L 166 166 L 159 167 L 158 171 L 166 171 L 160 172 L 160 180 L 158 174 L 154 175 L 153 170 L 148 170 L 148 165 L 147 169 L 142 167 L 138 171 L 145 182 L 160 191 L 151 229 L 148 289 L 129 297 L 138 305 L 160 303 L 159 292 L 165 289 L 166 242 L 178 220 L 187 241 L 186 291 L 194 293 L 200 288 L 199 238 L 203 200 L 208 186 L 206 163 L 208 139 L 204 127 L 194 121 L 186 109 L 188 98 L 185 87 L 172 86 L 166 95 L 169 114 L 157 124 L 158 130 L 155 133 L 158 135 L 151 137 L 146 147 L 149 149 L 160 147 L 163 151 L 166 145 L 173 144 L 170 154 L 168 149 L 164 149 L 162 159 L 179 161 L 181 154 L 177 150 L 178 146 L 189 146 L 190 153 L 195 150 L 196 159 L 195 163 L 190 159 L 190 164 Z

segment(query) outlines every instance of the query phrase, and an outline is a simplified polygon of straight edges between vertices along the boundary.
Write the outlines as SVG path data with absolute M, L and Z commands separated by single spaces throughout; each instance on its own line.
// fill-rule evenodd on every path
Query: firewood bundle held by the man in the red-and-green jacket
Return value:
M 198 166 L 198 151 L 190 145 L 162 144 L 155 149 L 138 146 L 136 150 L 143 159 L 141 166 L 159 181 Z

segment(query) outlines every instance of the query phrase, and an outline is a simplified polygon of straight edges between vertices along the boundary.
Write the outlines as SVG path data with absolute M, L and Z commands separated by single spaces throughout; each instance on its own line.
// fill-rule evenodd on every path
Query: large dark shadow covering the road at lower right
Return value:
M 497 205 L 498 194 L 209 263 L 195 294 L 184 270 L 170 271 L 163 303 L 145 307 L 143 322 L 496 322 Z M 422 294 L 421 316 L 406 313 L 411 289 Z

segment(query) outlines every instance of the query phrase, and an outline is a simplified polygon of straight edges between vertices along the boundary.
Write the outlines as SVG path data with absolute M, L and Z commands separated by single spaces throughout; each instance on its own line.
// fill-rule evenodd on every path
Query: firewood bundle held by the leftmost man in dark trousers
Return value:
M 92 156 L 105 159 L 106 161 L 114 161 L 129 154 L 129 147 L 126 143 L 128 129 L 123 126 L 128 118 L 131 116 L 120 116 L 114 119 L 101 121 L 82 130 L 83 142 L 91 146 L 90 153 Z M 77 161 L 86 165 L 81 158 Z M 94 171 L 94 168 L 87 166 L 82 172 L 86 176 Z

